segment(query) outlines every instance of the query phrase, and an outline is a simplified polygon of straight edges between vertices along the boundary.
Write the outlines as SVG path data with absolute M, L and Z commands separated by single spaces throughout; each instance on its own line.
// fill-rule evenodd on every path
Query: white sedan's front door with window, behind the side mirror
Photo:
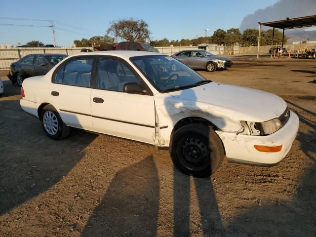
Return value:
M 95 88 L 91 92 L 94 131 L 154 144 L 154 97 L 123 92 L 125 83 L 144 82 L 121 59 L 102 57 L 97 63 Z

